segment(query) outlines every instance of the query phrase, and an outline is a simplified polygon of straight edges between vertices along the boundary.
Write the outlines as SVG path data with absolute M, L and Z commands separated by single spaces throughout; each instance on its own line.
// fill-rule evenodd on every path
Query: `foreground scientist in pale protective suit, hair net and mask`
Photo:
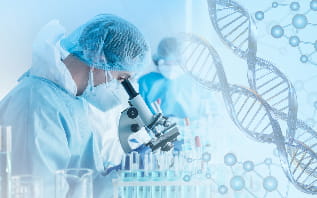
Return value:
M 103 138 L 94 131 L 89 104 L 104 112 L 119 105 L 120 81 L 143 71 L 149 46 L 135 26 L 109 14 L 64 35 L 56 20 L 44 26 L 31 68 L 0 102 L 0 125 L 12 126 L 12 175 L 42 177 L 50 198 L 56 170 L 89 168 L 94 197 L 112 197 L 122 149 L 107 129 Z

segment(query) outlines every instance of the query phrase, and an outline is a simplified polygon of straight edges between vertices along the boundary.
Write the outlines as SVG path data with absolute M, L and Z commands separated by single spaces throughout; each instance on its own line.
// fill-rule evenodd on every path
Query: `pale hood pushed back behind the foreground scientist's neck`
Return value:
M 64 36 L 65 28 L 57 20 L 50 21 L 40 30 L 32 46 L 32 65 L 28 74 L 48 79 L 75 96 L 77 86 L 62 62 L 69 54 L 60 46 Z

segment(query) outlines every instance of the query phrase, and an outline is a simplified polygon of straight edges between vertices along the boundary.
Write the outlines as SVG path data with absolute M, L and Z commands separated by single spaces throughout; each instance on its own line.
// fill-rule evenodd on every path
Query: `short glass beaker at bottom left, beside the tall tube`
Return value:
M 43 181 L 33 175 L 18 175 L 11 178 L 12 198 L 43 198 Z

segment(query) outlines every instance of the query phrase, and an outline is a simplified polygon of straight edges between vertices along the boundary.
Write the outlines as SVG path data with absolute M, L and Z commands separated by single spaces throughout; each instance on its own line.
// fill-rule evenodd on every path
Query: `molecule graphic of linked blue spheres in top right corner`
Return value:
M 307 2 L 274 1 L 269 8 L 255 12 L 254 18 L 258 22 L 264 21 L 269 11 L 287 7 L 290 11 L 287 23 L 274 24 L 271 27 L 271 36 L 275 39 L 286 39 L 291 47 L 298 50 L 300 62 L 317 66 L 317 39 L 314 37 L 309 39 L 315 40 L 308 40 L 308 37 L 316 35 L 312 31 L 316 30 L 317 26 L 317 0 L 311 0 L 306 6 Z M 302 11 L 304 9 L 306 10 Z

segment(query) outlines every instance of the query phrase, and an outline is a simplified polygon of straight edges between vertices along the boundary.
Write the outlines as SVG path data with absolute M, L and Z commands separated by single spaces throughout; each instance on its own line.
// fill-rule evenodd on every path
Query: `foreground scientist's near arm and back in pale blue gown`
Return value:
M 70 161 L 67 126 L 57 107 L 37 93 L 32 89 L 10 93 L 0 103 L 0 123 L 12 126 L 12 175 L 42 178 L 44 195 L 53 198 L 54 173 Z

